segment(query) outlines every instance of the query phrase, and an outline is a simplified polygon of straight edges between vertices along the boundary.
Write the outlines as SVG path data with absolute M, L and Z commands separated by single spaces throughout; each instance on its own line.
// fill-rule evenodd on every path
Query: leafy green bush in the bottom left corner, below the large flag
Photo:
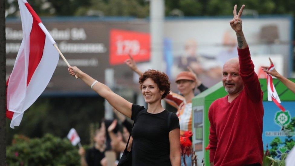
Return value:
M 12 145 L 7 147 L 8 165 L 79 165 L 78 148 L 67 138 L 61 139 L 51 134 L 42 138 L 28 138 L 15 135 Z

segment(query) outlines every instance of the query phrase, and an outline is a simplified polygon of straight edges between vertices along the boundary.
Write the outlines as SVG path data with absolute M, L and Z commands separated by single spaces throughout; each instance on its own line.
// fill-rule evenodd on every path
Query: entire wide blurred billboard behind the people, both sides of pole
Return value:
M 204 85 L 210 87 L 221 80 L 223 63 L 237 57 L 237 39 L 231 29 L 231 17 L 199 17 L 166 19 L 164 22 L 164 51 L 162 70 L 170 77 L 171 90 L 180 71 L 191 67 Z M 74 20 L 74 21 L 73 21 Z M 147 19 L 43 19 L 72 66 L 78 66 L 90 76 L 105 82 L 105 70 L 114 70 L 114 82 L 138 90 L 138 76 L 124 64 L 133 55 L 138 67 L 151 68 L 151 40 Z M 292 18 L 290 16 L 243 18 L 243 31 L 250 46 L 255 71 L 265 75 L 260 66 L 269 65 L 272 57 L 277 70 L 288 76 L 292 69 Z M 7 77 L 17 55 L 22 31 L 20 20 L 6 21 Z M 157 50 L 154 50 L 157 51 Z M 60 59 L 57 69 L 44 93 L 89 93 L 82 81 L 74 80 Z

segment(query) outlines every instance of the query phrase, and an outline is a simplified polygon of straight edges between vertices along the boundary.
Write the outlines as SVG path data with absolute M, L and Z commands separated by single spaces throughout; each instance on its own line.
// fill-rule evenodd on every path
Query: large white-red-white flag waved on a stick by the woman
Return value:
M 41 95 L 57 66 L 55 41 L 26 0 L 18 0 L 23 40 L 7 81 L 7 111 L 10 127 L 19 126 L 24 111 Z

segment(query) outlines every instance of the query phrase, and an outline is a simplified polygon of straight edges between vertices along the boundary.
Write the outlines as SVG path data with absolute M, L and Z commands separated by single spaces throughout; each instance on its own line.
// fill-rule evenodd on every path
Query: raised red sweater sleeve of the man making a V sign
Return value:
M 254 72 L 254 64 L 251 60 L 249 47 L 238 48 L 240 76 L 244 82 L 245 90 L 252 101 L 258 102 L 263 97 L 257 74 Z

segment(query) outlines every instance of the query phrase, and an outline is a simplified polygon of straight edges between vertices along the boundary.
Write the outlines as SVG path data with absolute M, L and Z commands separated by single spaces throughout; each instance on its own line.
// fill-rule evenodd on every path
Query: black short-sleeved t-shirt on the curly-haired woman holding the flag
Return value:
M 132 105 L 131 119 L 135 121 L 132 129 L 132 165 L 171 165 L 169 132 L 180 128 L 176 114 L 170 116 L 164 110 L 157 114 L 147 112 L 144 106 Z

